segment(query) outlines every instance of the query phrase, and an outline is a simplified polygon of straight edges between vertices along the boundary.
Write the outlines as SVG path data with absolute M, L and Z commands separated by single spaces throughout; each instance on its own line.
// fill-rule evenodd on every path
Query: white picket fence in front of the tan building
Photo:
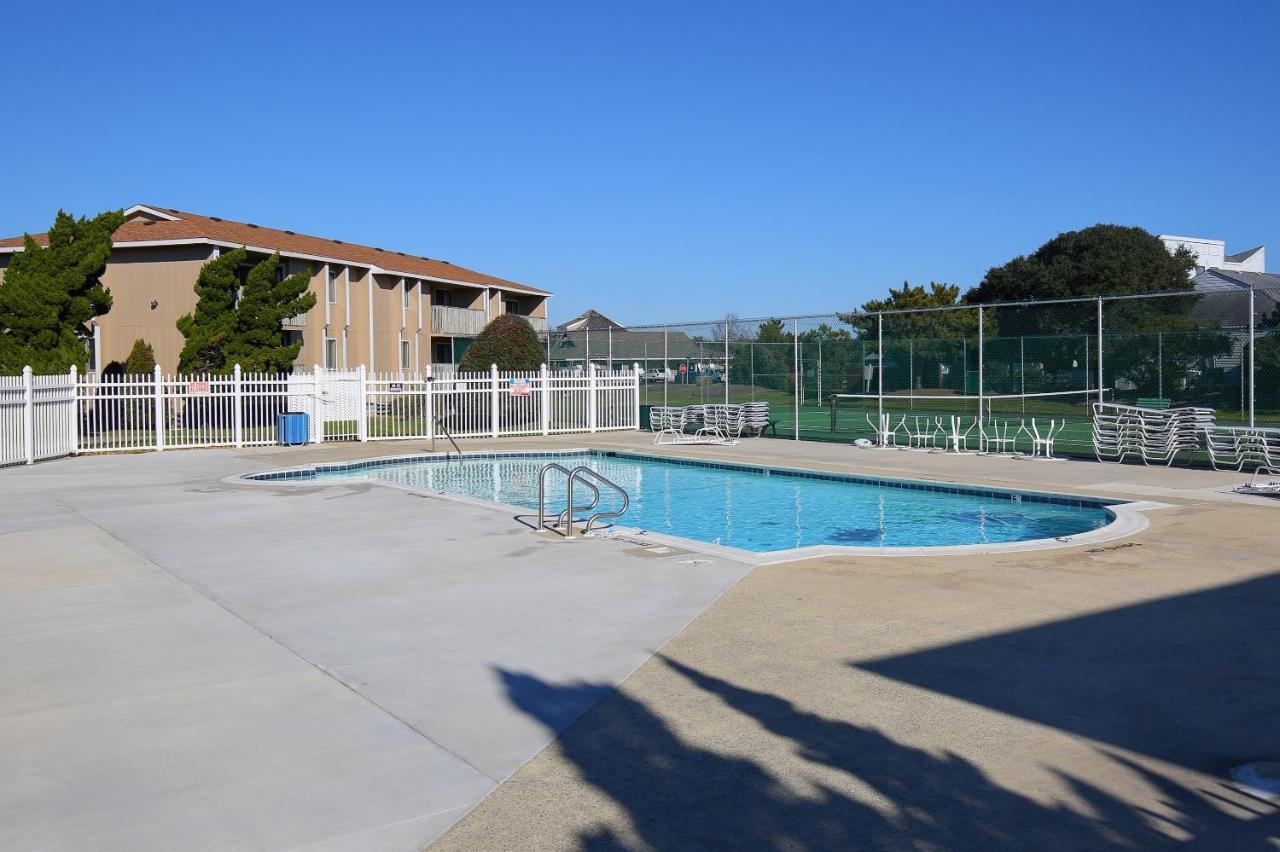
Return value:
M 276 416 L 307 414 L 307 443 L 598 432 L 640 427 L 640 367 L 588 372 L 0 376 L 0 466 L 76 453 L 278 443 Z

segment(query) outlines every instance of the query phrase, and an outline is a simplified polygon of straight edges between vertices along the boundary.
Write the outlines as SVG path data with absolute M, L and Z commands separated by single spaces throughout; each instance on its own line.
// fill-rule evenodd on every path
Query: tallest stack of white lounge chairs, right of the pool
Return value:
M 1100 462 L 1135 455 L 1144 464 L 1172 464 L 1179 453 L 1203 449 L 1212 427 L 1212 408 L 1093 403 L 1093 452 Z

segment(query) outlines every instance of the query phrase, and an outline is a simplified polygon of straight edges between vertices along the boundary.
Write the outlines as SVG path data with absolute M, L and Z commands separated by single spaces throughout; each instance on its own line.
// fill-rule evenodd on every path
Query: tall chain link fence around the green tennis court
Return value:
M 1213 408 L 1280 426 L 1280 288 L 883 313 L 740 317 L 543 338 L 554 370 L 640 365 L 653 406 L 768 402 L 768 436 L 851 441 L 877 423 L 1061 423 L 1092 455 L 1094 402 Z

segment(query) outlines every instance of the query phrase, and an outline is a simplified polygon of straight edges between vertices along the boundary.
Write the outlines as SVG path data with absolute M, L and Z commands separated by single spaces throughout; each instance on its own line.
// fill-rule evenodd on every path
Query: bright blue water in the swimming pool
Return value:
M 631 495 L 617 523 L 758 553 L 808 545 L 901 548 L 1055 539 L 1111 522 L 1103 500 L 666 462 L 626 453 L 489 455 L 332 466 L 289 477 L 383 480 L 538 510 L 538 475 L 586 464 Z M 268 475 L 270 478 L 280 473 Z M 265 478 L 265 477 L 264 477 Z M 549 481 L 550 482 L 550 481 Z M 948 489 L 948 490 L 938 490 Z M 562 477 L 548 505 L 563 508 Z M 581 494 L 581 493 L 577 493 Z M 577 496 L 575 494 L 575 496 Z M 614 505 L 605 494 L 602 504 Z M 577 498 L 579 503 L 584 498 Z

